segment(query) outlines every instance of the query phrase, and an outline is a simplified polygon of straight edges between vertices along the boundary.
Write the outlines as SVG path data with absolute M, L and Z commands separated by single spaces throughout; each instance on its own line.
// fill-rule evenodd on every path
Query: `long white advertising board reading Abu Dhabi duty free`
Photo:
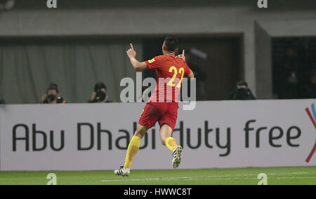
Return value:
M 184 147 L 180 168 L 315 166 L 316 154 L 305 161 L 316 141 L 305 109 L 312 113 L 315 101 L 197 102 L 193 111 L 179 109 L 173 137 Z M 144 106 L 1 105 L 0 170 L 113 170 L 124 164 Z M 158 124 L 140 146 L 133 169 L 171 169 Z

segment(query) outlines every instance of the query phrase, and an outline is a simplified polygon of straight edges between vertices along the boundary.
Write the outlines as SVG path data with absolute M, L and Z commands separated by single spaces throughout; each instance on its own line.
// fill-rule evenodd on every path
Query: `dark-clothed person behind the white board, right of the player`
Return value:
M 228 100 L 247 100 L 256 99 L 252 94 L 251 90 L 248 88 L 248 83 L 246 81 L 237 82 L 237 88 L 232 90 Z

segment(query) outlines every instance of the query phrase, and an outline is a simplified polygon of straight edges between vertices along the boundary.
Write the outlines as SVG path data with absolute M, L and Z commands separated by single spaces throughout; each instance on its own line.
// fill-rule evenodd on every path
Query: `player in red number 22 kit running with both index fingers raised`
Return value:
M 176 52 L 178 52 L 178 39 L 173 36 L 167 36 L 164 40 L 162 45 L 163 55 L 154 57 L 152 60 L 138 62 L 133 44 L 126 51 L 136 71 L 143 71 L 145 69 L 156 70 L 157 85 L 140 115 L 137 130 L 126 152 L 124 167 L 115 170 L 114 174 L 129 176 L 131 163 L 138 152 L 140 140 L 157 121 L 160 125 L 160 140 L 162 141 L 162 145 L 168 147 L 173 152 L 173 168 L 180 165 L 182 146 L 178 146 L 176 139 L 171 137 L 171 135 L 178 115 L 178 94 L 182 79 L 184 76 L 194 78 L 194 74 L 185 62 L 184 50 L 183 54 L 179 56 L 175 55 Z

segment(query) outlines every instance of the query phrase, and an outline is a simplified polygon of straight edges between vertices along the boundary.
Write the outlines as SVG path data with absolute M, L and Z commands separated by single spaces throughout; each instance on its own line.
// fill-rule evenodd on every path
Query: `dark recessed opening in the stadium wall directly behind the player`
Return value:
M 197 78 L 197 100 L 227 99 L 236 82 L 242 80 L 242 35 L 177 35 L 179 50 L 185 50 L 187 64 Z M 145 60 L 162 51 L 162 36 L 143 41 Z M 202 53 L 202 55 L 201 55 Z M 205 57 L 204 57 L 205 56 Z M 145 77 L 155 78 L 155 71 L 146 70 Z M 212 85 L 212 86 L 209 86 Z

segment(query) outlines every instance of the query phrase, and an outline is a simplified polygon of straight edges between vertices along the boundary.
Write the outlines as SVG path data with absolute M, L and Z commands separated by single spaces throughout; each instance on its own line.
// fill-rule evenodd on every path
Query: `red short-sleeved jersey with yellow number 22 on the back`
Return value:
M 157 74 L 156 89 L 148 102 L 178 102 L 183 77 L 190 74 L 187 63 L 173 55 L 160 55 L 145 63 Z

